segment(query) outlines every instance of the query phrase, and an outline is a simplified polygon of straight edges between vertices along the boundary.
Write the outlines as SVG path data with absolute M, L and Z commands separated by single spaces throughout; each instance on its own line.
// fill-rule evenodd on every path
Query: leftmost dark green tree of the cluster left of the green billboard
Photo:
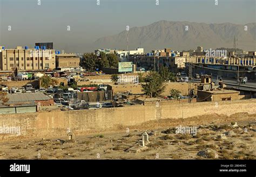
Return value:
M 89 72 L 93 72 L 96 69 L 97 56 L 95 53 L 84 53 L 80 65 Z

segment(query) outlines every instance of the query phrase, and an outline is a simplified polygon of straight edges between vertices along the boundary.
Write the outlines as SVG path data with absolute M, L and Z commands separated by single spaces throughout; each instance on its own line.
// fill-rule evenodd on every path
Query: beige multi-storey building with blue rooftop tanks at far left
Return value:
M 44 70 L 55 69 L 55 50 L 28 49 L 27 46 L 23 49 L 18 46 L 16 49 L 4 49 L 0 47 L 0 70 L 10 71 L 14 67 L 17 70 Z

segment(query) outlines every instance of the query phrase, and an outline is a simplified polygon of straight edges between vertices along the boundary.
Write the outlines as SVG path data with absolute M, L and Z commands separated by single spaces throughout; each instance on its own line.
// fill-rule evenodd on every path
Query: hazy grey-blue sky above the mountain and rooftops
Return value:
M 0 45 L 91 51 L 100 37 L 126 26 L 166 21 L 246 24 L 255 22 L 256 0 L 0 0 Z M 11 26 L 11 31 L 8 31 Z M 67 30 L 70 26 L 70 31 Z

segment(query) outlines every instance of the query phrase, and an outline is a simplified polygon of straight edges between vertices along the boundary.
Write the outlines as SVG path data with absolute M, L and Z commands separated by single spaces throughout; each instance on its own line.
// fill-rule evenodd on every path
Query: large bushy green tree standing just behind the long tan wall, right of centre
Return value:
M 157 72 L 153 71 L 145 77 L 145 84 L 142 84 L 142 90 L 150 98 L 160 97 L 164 92 L 164 79 Z

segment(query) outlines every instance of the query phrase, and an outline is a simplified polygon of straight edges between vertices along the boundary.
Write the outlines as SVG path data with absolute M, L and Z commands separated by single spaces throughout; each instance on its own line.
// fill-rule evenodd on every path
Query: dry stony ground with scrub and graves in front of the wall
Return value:
M 243 119 L 235 121 L 237 117 Z M 78 135 L 74 140 L 59 137 L 0 142 L 0 159 L 256 159 L 255 115 L 236 114 L 215 122 L 200 119 L 159 121 L 153 130 L 149 129 L 149 122 L 130 127 L 129 131 L 124 128 Z M 182 134 L 177 132 L 177 126 L 197 127 L 197 132 Z M 147 148 L 127 152 L 142 139 L 143 132 L 149 134 Z

